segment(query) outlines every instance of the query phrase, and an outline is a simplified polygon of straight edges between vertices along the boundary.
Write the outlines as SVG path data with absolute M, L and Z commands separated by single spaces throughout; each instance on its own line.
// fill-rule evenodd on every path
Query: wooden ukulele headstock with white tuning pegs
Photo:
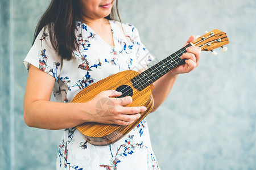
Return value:
M 225 32 L 213 29 L 213 31 L 207 32 L 205 35 L 198 37 L 192 42 L 192 44 L 199 46 L 201 50 L 212 51 L 213 55 L 216 55 L 217 53 L 213 52 L 213 49 L 221 46 L 222 52 L 226 52 L 227 48 L 224 47 L 224 45 L 229 44 L 229 39 Z

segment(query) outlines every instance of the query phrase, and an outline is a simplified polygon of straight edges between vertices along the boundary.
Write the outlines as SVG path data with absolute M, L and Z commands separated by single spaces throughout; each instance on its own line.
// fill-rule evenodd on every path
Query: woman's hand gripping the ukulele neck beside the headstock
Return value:
M 189 37 L 185 45 L 188 45 L 189 42 L 193 41 L 195 41 L 195 36 Z M 185 63 L 172 69 L 168 74 L 175 76 L 177 74 L 189 73 L 199 65 L 201 48 L 198 46 L 190 46 L 186 50 L 187 52 L 180 57 L 181 59 L 185 59 Z

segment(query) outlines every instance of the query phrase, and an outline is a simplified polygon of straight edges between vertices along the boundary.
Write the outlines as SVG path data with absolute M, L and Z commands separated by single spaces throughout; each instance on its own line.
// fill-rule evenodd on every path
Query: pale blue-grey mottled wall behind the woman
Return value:
M 0 169 L 55 168 L 61 130 L 28 128 L 22 108 L 22 61 L 48 2 L 0 1 Z M 228 52 L 217 49 L 217 57 L 202 52 L 200 66 L 180 75 L 148 116 L 160 167 L 256 169 L 256 1 L 123 0 L 119 10 L 159 60 L 205 30 L 218 28 L 230 40 Z

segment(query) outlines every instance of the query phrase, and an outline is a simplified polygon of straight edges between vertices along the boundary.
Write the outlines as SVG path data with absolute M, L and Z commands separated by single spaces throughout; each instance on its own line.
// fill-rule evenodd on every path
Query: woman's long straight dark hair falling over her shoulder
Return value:
M 115 2 L 118 19 L 121 22 L 118 12 L 118 0 Z M 34 33 L 34 40 L 39 32 L 43 29 L 43 36 L 45 36 L 46 29 L 49 32 L 49 38 L 53 49 L 56 51 L 61 59 L 71 60 L 73 51 L 78 49 L 78 42 L 75 35 L 76 20 L 80 16 L 79 0 L 52 0 L 42 18 L 40 18 Z M 116 19 L 115 9 L 106 19 Z

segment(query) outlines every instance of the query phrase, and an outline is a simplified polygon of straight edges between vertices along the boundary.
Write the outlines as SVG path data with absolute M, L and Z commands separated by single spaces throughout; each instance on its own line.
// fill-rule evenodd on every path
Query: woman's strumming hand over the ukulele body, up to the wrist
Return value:
M 140 112 L 146 111 L 146 107 L 124 107 L 131 104 L 131 96 L 121 96 L 121 92 L 115 90 L 102 91 L 92 100 L 86 102 L 86 112 L 91 115 L 92 122 L 102 124 L 129 125 L 141 116 Z

